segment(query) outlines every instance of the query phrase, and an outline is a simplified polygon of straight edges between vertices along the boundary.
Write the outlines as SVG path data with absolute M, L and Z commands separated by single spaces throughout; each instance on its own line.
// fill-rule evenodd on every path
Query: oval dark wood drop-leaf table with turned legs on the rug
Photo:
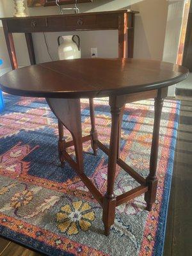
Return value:
M 157 192 L 157 153 L 159 125 L 163 99 L 168 86 L 188 76 L 188 69 L 172 63 L 134 59 L 82 59 L 53 61 L 13 70 L 0 78 L 1 90 L 14 95 L 45 97 L 59 120 L 58 149 L 61 163 L 67 161 L 77 172 L 85 186 L 103 208 L 106 236 L 115 220 L 115 208 L 145 193 L 147 210 L 151 211 Z M 92 131 L 82 138 L 80 98 L 109 97 L 111 107 L 111 139 L 109 148 L 102 144 L 95 128 L 91 108 Z M 154 131 L 147 179 L 135 172 L 120 159 L 120 132 L 125 104 L 135 100 L 155 99 Z M 63 138 L 63 125 L 71 132 L 73 141 Z M 91 140 L 93 152 L 97 148 L 108 154 L 108 188 L 102 196 L 83 172 L 83 142 Z M 74 145 L 76 161 L 66 148 Z M 116 164 L 129 173 L 140 186 L 115 196 Z

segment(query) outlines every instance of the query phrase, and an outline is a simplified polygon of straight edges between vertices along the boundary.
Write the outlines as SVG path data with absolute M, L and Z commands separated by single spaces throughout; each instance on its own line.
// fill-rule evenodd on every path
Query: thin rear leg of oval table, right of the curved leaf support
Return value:
M 95 128 L 95 109 L 94 109 L 94 102 L 93 99 L 89 99 L 90 101 L 90 118 L 91 118 L 91 124 L 92 124 L 92 130 L 91 130 L 91 135 L 92 135 L 92 149 L 93 153 L 95 156 L 97 156 L 97 130 Z

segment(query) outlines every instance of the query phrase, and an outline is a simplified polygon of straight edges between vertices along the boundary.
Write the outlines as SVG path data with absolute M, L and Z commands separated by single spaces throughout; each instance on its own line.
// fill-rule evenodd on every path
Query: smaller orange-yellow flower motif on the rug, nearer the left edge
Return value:
M 26 189 L 12 196 L 11 206 L 13 208 L 19 208 L 29 204 L 31 200 L 33 200 L 33 192 Z

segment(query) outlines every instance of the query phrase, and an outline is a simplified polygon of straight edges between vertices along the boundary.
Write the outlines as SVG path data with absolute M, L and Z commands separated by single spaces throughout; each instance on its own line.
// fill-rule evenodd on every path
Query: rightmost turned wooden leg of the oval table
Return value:
M 157 157 L 159 147 L 159 127 L 161 121 L 161 112 L 163 108 L 163 98 L 161 98 L 161 90 L 159 90 L 154 104 L 154 131 L 152 136 L 152 147 L 150 153 L 150 172 L 146 179 L 148 191 L 145 193 L 145 201 L 147 202 L 147 211 L 152 210 L 152 204 L 156 201 L 157 193 Z

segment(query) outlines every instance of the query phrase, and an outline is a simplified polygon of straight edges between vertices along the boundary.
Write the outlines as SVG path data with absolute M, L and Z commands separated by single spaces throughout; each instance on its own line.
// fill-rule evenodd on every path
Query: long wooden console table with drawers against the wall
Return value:
M 92 12 L 68 15 L 1 18 L 12 68 L 18 68 L 13 33 L 25 33 L 31 65 L 36 64 L 31 33 L 118 29 L 120 58 L 132 58 L 134 14 L 131 10 Z

